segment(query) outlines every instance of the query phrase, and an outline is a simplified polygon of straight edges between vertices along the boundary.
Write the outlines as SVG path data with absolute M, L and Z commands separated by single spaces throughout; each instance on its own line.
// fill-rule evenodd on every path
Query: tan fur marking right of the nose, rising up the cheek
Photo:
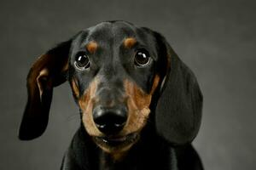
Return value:
M 124 127 L 125 133 L 140 131 L 146 124 L 150 113 L 149 105 L 152 95 L 159 81 L 160 77 L 156 75 L 150 93 L 146 94 L 141 88 L 137 87 L 135 82 L 125 80 L 125 92 L 128 95 L 127 105 L 129 111 L 128 121 Z

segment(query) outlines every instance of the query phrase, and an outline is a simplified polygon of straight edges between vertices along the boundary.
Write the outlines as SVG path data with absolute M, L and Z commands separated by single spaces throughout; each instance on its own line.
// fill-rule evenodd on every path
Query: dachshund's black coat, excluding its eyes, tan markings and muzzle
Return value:
M 125 37 L 136 37 L 134 48 L 122 47 L 119 42 Z M 101 47 L 95 54 L 88 54 L 84 48 L 84 44 L 91 40 Z M 143 69 L 133 65 L 133 53 L 138 48 L 147 49 L 152 58 L 150 65 Z M 76 54 L 81 52 L 90 56 L 90 71 L 78 71 L 73 66 Z M 159 33 L 124 21 L 108 21 L 80 31 L 67 42 L 50 49 L 41 59 L 47 59 L 46 64 L 40 65 L 39 59 L 28 75 L 28 101 L 20 125 L 20 139 L 34 139 L 44 133 L 53 88 L 66 79 L 72 83 L 73 77 L 76 77 L 79 94 L 84 94 L 94 77 L 103 77 L 98 88 L 111 87 L 114 90 L 111 94 L 102 94 L 102 99 L 118 99 L 124 91 L 119 80 L 124 77 L 146 93 L 153 86 L 154 76 L 160 77 L 150 104 L 148 122 L 140 132 L 140 139 L 123 159 L 115 161 L 97 147 L 81 122 L 63 158 L 61 169 L 203 169 L 199 156 L 190 144 L 201 124 L 201 90 L 195 75 Z M 67 71 L 62 70 L 65 61 L 69 65 Z M 37 82 L 34 75 L 39 74 L 38 65 L 47 68 L 49 75 Z M 41 96 L 34 83 L 42 88 Z M 75 96 L 74 99 L 78 102 Z

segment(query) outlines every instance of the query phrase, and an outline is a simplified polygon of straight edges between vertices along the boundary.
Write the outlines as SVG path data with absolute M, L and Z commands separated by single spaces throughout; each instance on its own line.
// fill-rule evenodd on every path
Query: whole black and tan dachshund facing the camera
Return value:
M 201 125 L 201 90 L 160 33 L 106 21 L 41 55 L 27 76 L 21 140 L 44 133 L 53 88 L 66 81 L 81 126 L 62 170 L 203 169 L 191 144 Z

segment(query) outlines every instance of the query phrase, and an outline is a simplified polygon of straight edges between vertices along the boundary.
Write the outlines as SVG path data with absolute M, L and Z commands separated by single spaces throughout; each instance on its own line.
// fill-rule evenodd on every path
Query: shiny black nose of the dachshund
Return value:
M 109 109 L 97 106 L 93 111 L 93 120 L 102 133 L 119 133 L 125 126 L 127 109 L 125 107 Z

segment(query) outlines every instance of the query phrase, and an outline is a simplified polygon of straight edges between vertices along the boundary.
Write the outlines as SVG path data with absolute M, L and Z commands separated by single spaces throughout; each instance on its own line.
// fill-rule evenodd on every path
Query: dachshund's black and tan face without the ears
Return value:
M 84 127 L 103 150 L 130 148 L 147 122 L 160 83 L 156 41 L 124 22 L 102 23 L 73 40 L 69 81 Z

